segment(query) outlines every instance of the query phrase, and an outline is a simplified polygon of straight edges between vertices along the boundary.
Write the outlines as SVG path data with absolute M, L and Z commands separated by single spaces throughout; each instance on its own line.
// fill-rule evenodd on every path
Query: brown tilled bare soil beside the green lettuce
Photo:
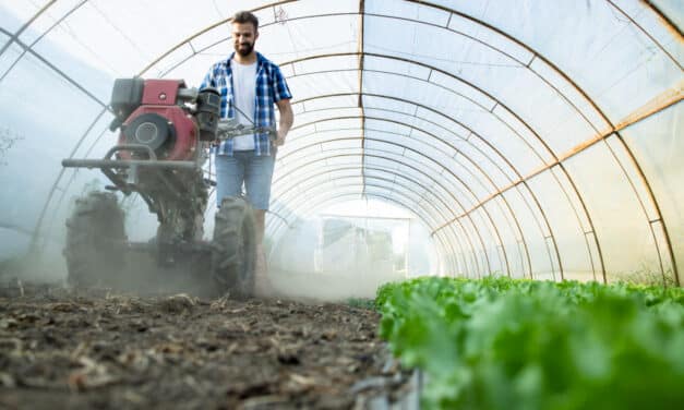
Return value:
M 377 323 L 347 304 L 2 286 L 0 408 L 372 408 L 408 388 Z

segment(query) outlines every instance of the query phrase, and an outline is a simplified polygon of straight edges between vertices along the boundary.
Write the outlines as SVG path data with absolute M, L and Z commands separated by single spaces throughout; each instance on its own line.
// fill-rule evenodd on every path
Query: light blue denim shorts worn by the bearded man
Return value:
M 215 155 L 216 204 L 226 196 L 241 196 L 255 209 L 268 209 L 275 155 L 254 155 L 254 150 L 236 150 L 232 156 Z

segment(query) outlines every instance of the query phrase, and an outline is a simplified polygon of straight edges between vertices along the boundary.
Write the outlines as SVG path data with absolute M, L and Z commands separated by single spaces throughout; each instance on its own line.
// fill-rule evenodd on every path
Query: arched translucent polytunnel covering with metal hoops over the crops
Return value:
M 293 96 L 273 243 L 327 206 L 375 200 L 427 230 L 433 274 L 682 284 L 680 1 L 0 8 L 3 258 L 61 250 L 71 198 L 103 180 L 61 160 L 116 140 L 115 79 L 199 86 L 232 49 L 232 14 L 250 10 Z

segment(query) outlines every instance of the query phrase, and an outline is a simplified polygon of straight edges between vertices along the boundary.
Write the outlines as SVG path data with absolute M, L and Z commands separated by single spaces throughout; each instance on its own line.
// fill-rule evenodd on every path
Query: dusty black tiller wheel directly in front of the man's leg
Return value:
M 254 293 L 256 228 L 252 207 L 242 198 L 227 197 L 216 212 L 212 276 L 221 293 L 238 298 Z

